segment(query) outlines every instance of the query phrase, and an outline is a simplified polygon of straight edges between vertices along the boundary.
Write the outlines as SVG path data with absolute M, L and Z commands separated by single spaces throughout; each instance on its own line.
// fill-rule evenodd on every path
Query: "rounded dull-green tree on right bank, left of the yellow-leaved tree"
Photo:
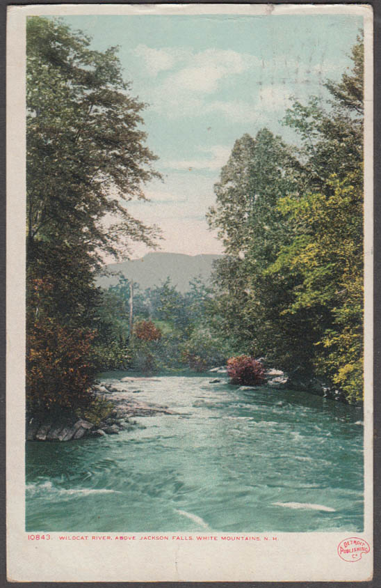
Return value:
M 294 148 L 267 129 L 255 139 L 245 134 L 221 171 L 217 203 L 209 212 L 209 223 L 219 228 L 229 255 L 216 263 L 214 275 L 217 330 L 220 325 L 227 333 L 232 352 L 266 355 L 283 369 L 296 367 L 299 350 L 298 365 L 307 370 L 311 344 L 300 341 L 298 333 L 305 317 L 294 324 L 281 315 L 297 277 L 284 274 L 279 279 L 266 269 L 292 238 L 292 226 L 277 202 L 284 194 L 299 194 L 305 183 Z

